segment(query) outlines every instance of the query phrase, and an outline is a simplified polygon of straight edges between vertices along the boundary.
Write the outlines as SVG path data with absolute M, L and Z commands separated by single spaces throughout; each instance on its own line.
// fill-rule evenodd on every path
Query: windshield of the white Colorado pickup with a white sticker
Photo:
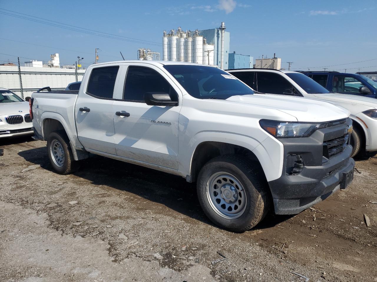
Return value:
M 164 65 L 164 68 L 197 99 L 228 99 L 254 94 L 247 85 L 219 68 L 204 65 Z

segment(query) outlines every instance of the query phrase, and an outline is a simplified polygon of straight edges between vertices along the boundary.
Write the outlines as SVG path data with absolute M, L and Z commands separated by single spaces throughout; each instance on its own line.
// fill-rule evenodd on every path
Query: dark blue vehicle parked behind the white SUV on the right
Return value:
M 300 71 L 330 92 L 377 98 L 377 82 L 356 73 L 337 71 Z

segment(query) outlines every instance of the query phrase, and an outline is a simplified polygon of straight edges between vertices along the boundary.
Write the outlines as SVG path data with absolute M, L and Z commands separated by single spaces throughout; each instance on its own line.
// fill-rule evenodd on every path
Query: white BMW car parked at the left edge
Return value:
M 34 135 L 29 103 L 0 87 L 0 138 Z

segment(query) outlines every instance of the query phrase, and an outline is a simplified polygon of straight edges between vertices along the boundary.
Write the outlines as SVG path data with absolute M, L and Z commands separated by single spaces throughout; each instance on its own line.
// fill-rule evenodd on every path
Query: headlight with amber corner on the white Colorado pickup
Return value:
M 327 123 L 298 123 L 275 120 L 260 120 L 261 127 L 276 138 L 308 137 Z

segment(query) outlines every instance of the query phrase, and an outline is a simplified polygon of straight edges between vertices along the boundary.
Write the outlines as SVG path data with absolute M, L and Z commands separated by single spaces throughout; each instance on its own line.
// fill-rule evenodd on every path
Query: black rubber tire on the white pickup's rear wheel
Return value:
M 61 166 L 58 166 L 54 161 L 54 156 L 52 156 L 51 146 L 58 141 L 64 152 L 64 161 Z M 52 132 L 47 138 L 47 150 L 48 157 L 50 159 L 51 165 L 54 170 L 59 174 L 69 174 L 76 171 L 80 167 L 80 163 L 75 161 L 71 147 L 69 145 L 69 139 L 65 132 L 56 131 Z

